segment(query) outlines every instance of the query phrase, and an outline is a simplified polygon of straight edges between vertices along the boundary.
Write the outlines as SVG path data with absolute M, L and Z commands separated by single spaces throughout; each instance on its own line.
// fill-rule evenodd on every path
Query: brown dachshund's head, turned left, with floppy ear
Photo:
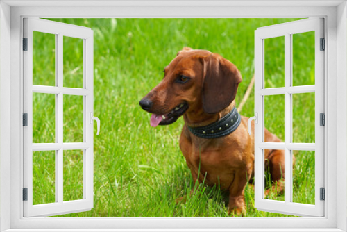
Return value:
M 164 78 L 139 101 L 151 126 L 176 122 L 185 113 L 203 109 L 214 114 L 235 99 L 242 81 L 235 65 L 216 53 L 183 48 L 164 69 Z

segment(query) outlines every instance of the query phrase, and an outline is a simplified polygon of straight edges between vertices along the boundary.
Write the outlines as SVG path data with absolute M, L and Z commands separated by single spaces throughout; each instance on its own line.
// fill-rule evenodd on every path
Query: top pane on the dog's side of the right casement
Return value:
M 285 86 L 285 37 L 264 40 L 265 88 Z

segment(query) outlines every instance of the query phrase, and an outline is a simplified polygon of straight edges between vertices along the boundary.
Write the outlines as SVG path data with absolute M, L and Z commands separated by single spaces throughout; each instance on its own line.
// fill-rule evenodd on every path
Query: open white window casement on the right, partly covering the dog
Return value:
M 293 86 L 292 68 L 292 35 L 314 31 L 314 85 Z M 324 126 L 320 126 L 320 113 L 324 113 L 324 51 L 320 49 L 320 38 L 323 38 L 323 19 L 303 19 L 296 22 L 277 24 L 257 28 L 255 31 L 255 115 L 258 115 L 255 124 L 255 208 L 274 213 L 290 215 L 323 216 L 324 201 L 320 200 L 320 188 L 324 187 Z M 285 87 L 265 88 L 264 82 L 264 40 L 284 36 L 285 38 Z M 293 142 L 293 99 L 292 94 L 315 93 L 315 143 Z M 285 141 L 264 141 L 264 96 L 283 94 L 285 97 Z M 305 107 L 305 106 L 303 106 Z M 264 196 L 264 149 L 285 150 L 285 201 L 265 199 Z M 293 172 L 292 152 L 315 152 L 315 204 L 298 204 L 293 202 Z

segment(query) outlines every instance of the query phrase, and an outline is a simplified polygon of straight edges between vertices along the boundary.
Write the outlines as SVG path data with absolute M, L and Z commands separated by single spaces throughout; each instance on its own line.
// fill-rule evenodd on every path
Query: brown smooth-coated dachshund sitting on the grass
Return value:
M 235 116 L 235 121 L 238 119 L 238 124 L 223 124 L 205 131 L 209 128 L 206 126 L 219 124 L 235 108 L 235 95 L 242 81 L 239 70 L 216 53 L 184 48 L 165 67 L 164 73 L 162 81 L 139 101 L 140 106 L 153 113 L 151 126 L 171 124 L 183 115 L 180 149 L 194 183 L 196 180 L 202 183 L 205 178 L 208 185 L 219 184 L 221 190 L 229 192 L 229 212 L 242 215 L 246 210 L 244 188 L 254 170 L 254 133 L 248 134 L 248 118 L 234 112 L 231 116 Z M 204 138 L 231 126 L 236 126 L 231 133 Z M 251 128 L 254 131 L 253 122 Z M 193 133 L 194 129 L 203 129 L 201 136 Z M 281 141 L 265 129 L 265 142 Z M 273 188 L 281 192 L 285 154 L 282 150 L 265 150 L 265 160 L 276 183 Z

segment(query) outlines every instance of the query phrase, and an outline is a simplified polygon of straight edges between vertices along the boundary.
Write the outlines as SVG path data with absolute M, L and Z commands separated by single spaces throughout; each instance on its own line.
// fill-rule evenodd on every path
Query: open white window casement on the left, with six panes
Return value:
M 33 85 L 33 31 L 55 36 L 55 85 Z M 83 40 L 83 86 L 67 88 L 63 85 L 63 38 Z M 24 19 L 24 38 L 28 38 L 28 50 L 24 51 L 24 113 L 28 114 L 28 126 L 24 126 L 24 188 L 28 190 L 24 204 L 24 217 L 45 217 L 90 210 L 93 208 L 93 31 L 90 28 L 51 22 L 44 19 Z M 35 47 L 35 49 L 40 49 Z M 44 68 L 44 67 L 43 67 Z M 33 143 L 33 93 L 55 96 L 55 141 Z M 83 98 L 83 141 L 64 142 L 63 96 L 77 95 Z M 82 102 L 82 101 L 81 101 Z M 42 109 L 44 110 L 44 109 Z M 34 119 L 35 120 L 35 119 Z M 53 130 L 53 129 L 52 129 Z M 81 150 L 83 153 L 83 197 L 64 201 L 63 151 Z M 33 205 L 33 151 L 54 151 L 55 153 L 55 201 Z M 83 152 L 82 152 L 83 151 Z

